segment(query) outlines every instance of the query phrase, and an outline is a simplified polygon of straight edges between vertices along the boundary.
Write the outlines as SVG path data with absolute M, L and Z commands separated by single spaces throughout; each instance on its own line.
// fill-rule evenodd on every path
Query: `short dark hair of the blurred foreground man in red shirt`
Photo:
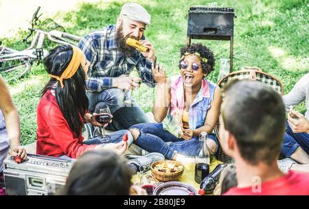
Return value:
M 279 157 L 285 130 L 281 95 L 262 82 L 240 80 L 225 89 L 222 119 L 236 138 L 240 155 L 250 164 L 273 163 Z

